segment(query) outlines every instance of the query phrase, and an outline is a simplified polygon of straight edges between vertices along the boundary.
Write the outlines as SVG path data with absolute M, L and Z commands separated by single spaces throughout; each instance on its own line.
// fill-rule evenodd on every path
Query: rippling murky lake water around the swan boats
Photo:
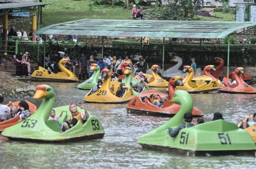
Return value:
M 31 82 L 28 82 L 31 83 Z M 32 84 L 40 84 L 32 82 Z M 44 83 L 55 91 L 55 107 L 82 101 L 87 90 L 76 89 L 72 83 Z M 153 89 L 153 88 L 151 88 Z M 154 88 L 164 92 L 165 88 Z M 239 119 L 254 113 L 255 94 L 193 94 L 195 107 L 211 121 L 214 112 L 238 124 Z M 12 101 L 18 101 L 13 99 Z M 27 98 L 37 107 L 42 100 Z M 9 100 L 6 100 L 8 102 Z M 86 103 L 91 115 L 100 118 L 105 136 L 103 139 L 68 144 L 35 144 L 0 140 L 0 168 L 99 168 L 99 169 L 253 169 L 256 157 L 216 156 L 191 157 L 179 154 L 142 149 L 138 138 L 159 127 L 169 118 L 128 114 L 127 104 Z

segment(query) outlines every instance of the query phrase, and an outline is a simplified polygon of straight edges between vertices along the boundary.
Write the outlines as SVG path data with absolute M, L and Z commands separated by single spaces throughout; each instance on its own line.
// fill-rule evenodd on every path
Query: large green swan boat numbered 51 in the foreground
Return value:
M 185 124 L 183 116 L 186 112 L 192 112 L 193 101 L 189 93 L 177 90 L 170 102 L 180 104 L 181 109 L 165 124 L 138 139 L 137 143 L 143 148 L 187 155 L 255 155 L 256 145 L 251 135 L 225 120 L 186 127 L 181 129 L 176 137 L 171 137 L 166 128 L 171 127 L 174 130 Z

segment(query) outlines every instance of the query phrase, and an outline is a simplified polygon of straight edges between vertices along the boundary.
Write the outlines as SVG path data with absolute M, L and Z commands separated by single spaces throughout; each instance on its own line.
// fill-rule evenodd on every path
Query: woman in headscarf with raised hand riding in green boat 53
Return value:
M 76 104 L 71 103 L 69 105 L 69 111 L 71 112 L 71 116 L 68 118 L 67 121 L 64 122 L 62 131 L 66 131 L 76 125 L 78 121 L 81 121 L 83 124 L 89 117 L 88 111 L 85 109 L 85 107 L 82 104 L 79 104 L 80 109 L 84 109 L 84 112 L 79 112 L 77 110 Z

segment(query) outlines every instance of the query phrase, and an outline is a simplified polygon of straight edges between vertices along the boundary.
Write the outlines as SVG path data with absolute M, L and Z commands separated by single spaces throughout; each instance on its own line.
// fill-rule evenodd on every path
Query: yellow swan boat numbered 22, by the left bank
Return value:
M 61 59 L 59 61 L 59 68 L 62 72 L 57 74 L 39 67 L 38 70 L 34 71 L 31 75 L 33 81 L 48 81 L 48 82 L 77 82 L 78 78 L 64 67 L 64 64 L 71 64 L 69 59 Z

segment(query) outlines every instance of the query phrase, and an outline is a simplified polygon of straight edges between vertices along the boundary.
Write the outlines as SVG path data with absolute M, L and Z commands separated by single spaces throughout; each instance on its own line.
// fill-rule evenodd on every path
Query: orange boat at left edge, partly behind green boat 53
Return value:
M 15 109 L 19 109 L 19 106 L 18 106 L 18 103 L 20 101 L 16 101 L 16 102 L 13 102 L 12 104 L 14 104 L 14 107 Z M 30 113 L 30 116 L 37 110 L 37 107 L 32 104 L 31 102 L 29 101 L 26 101 L 28 106 L 29 106 L 29 110 L 31 111 Z M 8 104 L 7 104 L 8 106 Z M 11 106 L 9 106 L 9 108 L 12 108 Z M 9 120 L 6 120 L 6 121 L 3 121 L 3 122 L 0 122 L 0 133 L 2 133 L 2 131 L 7 128 L 7 127 L 10 127 L 10 126 L 13 126 L 13 125 L 16 125 L 18 123 L 18 120 L 19 120 L 19 116 L 15 116 L 14 118 L 11 118 Z M 21 121 L 23 121 L 25 119 L 22 119 Z M 0 121 L 1 121 L 1 118 L 0 118 Z

